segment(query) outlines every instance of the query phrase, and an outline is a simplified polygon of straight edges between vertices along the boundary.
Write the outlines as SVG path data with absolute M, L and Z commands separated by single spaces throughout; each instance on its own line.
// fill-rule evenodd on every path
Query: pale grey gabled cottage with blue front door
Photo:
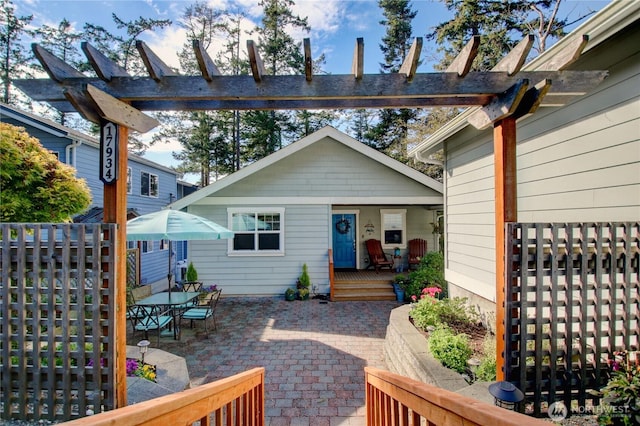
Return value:
M 337 269 L 365 269 L 371 238 L 405 264 L 408 240 L 437 248 L 441 206 L 440 182 L 325 127 L 170 207 L 236 232 L 189 242 L 199 279 L 227 295 L 280 295 L 305 263 L 312 290 L 329 293 L 329 250 Z

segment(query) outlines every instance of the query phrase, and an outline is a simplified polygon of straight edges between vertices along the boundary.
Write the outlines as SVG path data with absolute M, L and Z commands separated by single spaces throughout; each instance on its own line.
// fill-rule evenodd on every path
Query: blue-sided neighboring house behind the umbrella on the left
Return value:
M 23 127 L 58 159 L 76 169 L 91 190 L 92 204 L 75 221 L 102 222 L 104 184 L 99 178 L 100 142 L 91 136 L 50 120 L 0 103 L 0 120 Z M 137 155 L 129 155 L 127 169 L 127 207 L 129 218 L 163 209 L 177 197 L 194 191 L 193 185 L 177 181 L 177 173 Z M 166 242 L 130 242 L 140 249 L 140 284 L 158 283 L 166 288 L 169 250 Z M 178 261 L 186 256 L 182 243 L 174 243 Z M 163 284 L 161 284 L 163 283 Z M 164 287 L 161 287 L 164 285 Z

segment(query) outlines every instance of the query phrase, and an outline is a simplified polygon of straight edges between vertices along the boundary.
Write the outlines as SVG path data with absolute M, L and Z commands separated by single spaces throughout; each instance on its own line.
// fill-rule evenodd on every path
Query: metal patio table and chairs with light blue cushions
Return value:
M 215 309 L 222 290 L 203 291 L 200 282 L 183 283 L 181 290 L 155 293 L 140 300 L 135 300 L 129 293 L 126 315 L 133 332 L 143 332 L 145 339 L 150 331 L 157 332 L 160 345 L 163 333 L 172 333 L 175 340 L 180 340 L 183 320 L 190 321 L 191 328 L 195 321 L 202 321 L 205 333 L 208 333 L 207 322 L 211 318 L 215 330 Z

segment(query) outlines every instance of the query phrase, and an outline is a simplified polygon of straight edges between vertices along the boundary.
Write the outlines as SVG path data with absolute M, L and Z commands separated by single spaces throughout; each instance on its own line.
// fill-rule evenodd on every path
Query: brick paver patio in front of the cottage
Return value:
M 267 425 L 363 425 L 363 368 L 386 368 L 384 336 L 397 306 L 227 298 L 208 339 L 185 321 L 182 340 L 162 338 L 160 348 L 186 359 L 192 386 L 265 367 Z

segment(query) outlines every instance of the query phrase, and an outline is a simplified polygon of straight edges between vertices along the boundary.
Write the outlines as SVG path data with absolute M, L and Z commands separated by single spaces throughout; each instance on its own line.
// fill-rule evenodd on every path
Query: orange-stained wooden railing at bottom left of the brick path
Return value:
M 65 425 L 264 425 L 264 368 Z

